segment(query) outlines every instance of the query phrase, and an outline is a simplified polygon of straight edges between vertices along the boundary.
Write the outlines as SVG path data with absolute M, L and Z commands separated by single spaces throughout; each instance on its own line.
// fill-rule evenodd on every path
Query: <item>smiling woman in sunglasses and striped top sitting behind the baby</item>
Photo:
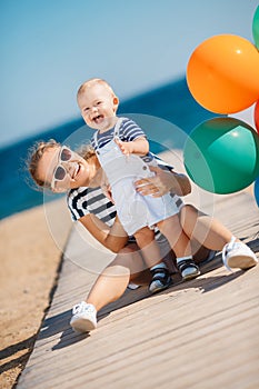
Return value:
M 70 325 L 77 331 L 88 332 L 97 327 L 97 312 L 120 298 L 129 282 L 147 285 L 150 271 L 135 242 L 130 242 L 116 216 L 113 203 L 102 193 L 102 172 L 93 150 L 84 158 L 53 140 L 37 143 L 28 160 L 34 182 L 54 192 L 68 192 L 68 205 L 74 220 L 79 220 L 104 247 L 118 253 L 102 271 L 86 301 L 73 307 Z M 190 192 L 190 182 L 183 174 L 153 168 L 156 177 L 139 180 L 137 190 L 146 194 L 161 196 L 172 191 L 178 196 Z M 229 268 L 248 269 L 258 263 L 255 253 L 240 242 L 218 220 L 192 206 L 182 206 L 180 222 L 186 235 L 203 250 L 199 259 L 206 259 L 209 250 L 223 250 L 223 261 Z M 159 240 L 159 239 L 158 239 Z M 170 249 L 161 247 L 165 257 L 173 260 Z M 197 248 L 196 248 L 197 250 Z M 195 259 L 197 257 L 193 257 Z

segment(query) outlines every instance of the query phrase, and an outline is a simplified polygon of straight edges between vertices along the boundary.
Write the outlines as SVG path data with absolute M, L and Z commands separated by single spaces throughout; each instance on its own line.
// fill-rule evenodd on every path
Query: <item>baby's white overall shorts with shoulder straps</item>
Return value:
M 179 207 L 171 196 L 160 198 L 142 196 L 136 191 L 135 182 L 140 178 L 152 177 L 148 164 L 138 156 L 124 156 L 114 142 L 119 137 L 122 118 L 114 127 L 113 139 L 98 148 L 97 132 L 93 138 L 97 144 L 97 156 L 111 187 L 118 217 L 129 236 L 143 227 L 153 228 L 159 221 L 179 212 Z M 158 166 L 153 160 L 152 166 Z

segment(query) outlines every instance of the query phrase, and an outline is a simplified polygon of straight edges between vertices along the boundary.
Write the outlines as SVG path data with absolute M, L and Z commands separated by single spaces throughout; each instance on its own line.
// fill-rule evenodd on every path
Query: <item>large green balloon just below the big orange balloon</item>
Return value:
M 207 120 L 187 139 L 183 162 L 191 180 L 205 190 L 236 192 L 259 176 L 259 136 L 238 119 Z

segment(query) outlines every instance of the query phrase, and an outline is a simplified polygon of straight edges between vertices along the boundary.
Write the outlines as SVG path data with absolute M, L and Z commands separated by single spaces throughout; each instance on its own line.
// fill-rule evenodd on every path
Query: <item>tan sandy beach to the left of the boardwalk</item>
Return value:
M 53 219 L 50 220 L 49 215 Z M 49 307 L 70 228 L 71 220 L 63 199 L 0 222 L 2 389 L 13 387 L 33 348 Z

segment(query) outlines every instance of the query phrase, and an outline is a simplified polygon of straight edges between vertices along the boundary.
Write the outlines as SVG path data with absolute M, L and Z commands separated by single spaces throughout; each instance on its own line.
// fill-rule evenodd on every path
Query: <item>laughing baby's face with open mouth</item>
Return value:
M 78 106 L 86 123 L 97 130 L 108 130 L 114 124 L 118 98 L 103 84 L 87 88 L 79 96 Z

